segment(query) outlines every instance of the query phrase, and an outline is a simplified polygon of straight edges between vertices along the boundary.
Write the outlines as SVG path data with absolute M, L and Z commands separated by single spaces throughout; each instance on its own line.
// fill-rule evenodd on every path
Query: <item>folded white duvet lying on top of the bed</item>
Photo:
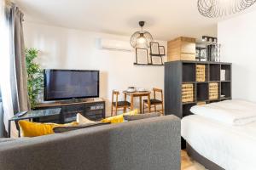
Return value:
M 195 115 L 205 116 L 230 125 L 256 122 L 256 104 L 245 100 L 232 99 L 208 105 L 195 105 L 190 111 Z

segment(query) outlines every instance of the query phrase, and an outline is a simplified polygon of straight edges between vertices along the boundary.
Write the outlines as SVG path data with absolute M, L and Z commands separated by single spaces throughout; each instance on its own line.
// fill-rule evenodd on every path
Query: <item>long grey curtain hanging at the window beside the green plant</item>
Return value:
M 25 45 L 22 26 L 23 13 L 15 3 L 10 4 L 7 12 L 11 40 L 11 90 L 14 112 L 17 113 L 30 109 L 27 93 Z

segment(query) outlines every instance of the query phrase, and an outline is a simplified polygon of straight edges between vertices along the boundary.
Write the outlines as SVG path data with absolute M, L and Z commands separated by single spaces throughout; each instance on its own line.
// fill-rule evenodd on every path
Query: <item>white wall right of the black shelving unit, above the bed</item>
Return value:
M 218 23 L 224 61 L 233 63 L 233 98 L 256 101 L 256 11 Z

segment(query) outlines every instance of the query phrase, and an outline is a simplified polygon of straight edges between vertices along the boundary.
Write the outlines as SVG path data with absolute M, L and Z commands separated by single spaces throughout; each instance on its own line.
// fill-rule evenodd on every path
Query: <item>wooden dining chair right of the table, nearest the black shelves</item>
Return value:
M 160 88 L 153 88 L 154 99 L 150 99 L 150 107 L 154 107 L 154 110 L 151 111 L 159 111 L 162 115 L 164 115 L 164 94 L 163 90 Z M 156 99 L 156 94 L 160 94 L 160 99 Z M 156 106 L 161 105 L 161 109 L 157 110 Z M 143 112 L 148 108 L 148 99 L 143 99 Z

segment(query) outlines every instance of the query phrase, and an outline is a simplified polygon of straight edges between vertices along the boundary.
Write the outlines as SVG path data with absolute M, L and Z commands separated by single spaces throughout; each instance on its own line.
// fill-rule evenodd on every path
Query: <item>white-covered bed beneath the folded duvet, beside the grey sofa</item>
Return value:
M 194 150 L 219 167 L 227 170 L 256 169 L 254 121 L 235 126 L 211 116 L 186 116 L 182 119 L 181 134 Z

